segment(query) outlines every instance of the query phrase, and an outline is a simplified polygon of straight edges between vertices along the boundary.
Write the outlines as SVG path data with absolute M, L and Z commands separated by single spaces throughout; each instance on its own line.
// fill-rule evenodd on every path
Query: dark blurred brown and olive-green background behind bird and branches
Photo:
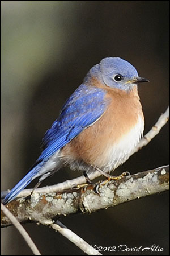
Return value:
M 1 49 L 1 190 L 12 188 L 32 166 L 59 109 L 104 57 L 122 57 L 150 80 L 139 86 L 145 133 L 168 106 L 169 1 L 1 1 Z M 115 173 L 168 164 L 168 145 L 169 123 Z M 42 185 L 78 175 L 65 168 Z M 169 255 L 168 199 L 164 192 L 60 220 L 97 246 L 164 248 L 104 255 Z M 46 226 L 24 228 L 42 255 L 84 255 Z M 32 255 L 13 226 L 1 234 L 1 255 Z

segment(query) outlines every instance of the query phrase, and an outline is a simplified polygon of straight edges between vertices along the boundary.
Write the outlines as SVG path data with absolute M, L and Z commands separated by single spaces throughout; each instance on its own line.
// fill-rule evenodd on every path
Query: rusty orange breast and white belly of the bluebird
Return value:
M 111 101 L 107 110 L 68 143 L 62 155 L 66 162 L 79 160 L 109 172 L 124 163 L 141 140 L 144 117 L 137 86 L 130 92 L 104 89 Z

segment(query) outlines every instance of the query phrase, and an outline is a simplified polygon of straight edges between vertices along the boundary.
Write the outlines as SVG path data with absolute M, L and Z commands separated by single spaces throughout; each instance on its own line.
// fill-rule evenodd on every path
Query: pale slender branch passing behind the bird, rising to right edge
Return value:
M 151 130 L 148 131 L 148 133 L 142 138 L 141 142 L 139 142 L 138 146 L 134 149 L 134 151 L 132 152 L 131 155 L 133 155 L 135 152 L 140 150 L 143 146 L 146 146 L 151 141 L 151 139 L 154 138 L 159 133 L 159 131 L 162 129 L 162 127 L 168 122 L 168 119 L 169 119 L 169 106 L 168 106 L 167 110 L 165 111 L 165 113 L 159 117 L 158 121 L 151 128 Z M 89 174 L 88 176 L 89 176 L 90 180 L 94 180 L 96 177 L 101 176 L 101 174 L 100 174 L 100 172 L 94 171 L 91 174 Z M 58 184 L 55 184 L 52 186 L 37 188 L 37 189 L 35 189 L 35 192 L 37 192 L 37 193 L 52 193 L 52 192 L 57 192 L 57 191 L 63 191 L 65 189 L 69 189 L 69 188 L 73 187 L 74 184 L 83 184 L 85 182 L 86 182 L 86 180 L 85 180 L 84 176 L 82 175 L 80 177 L 76 177 L 75 179 L 66 180 L 62 183 L 58 183 Z M 3 191 L 1 193 L 1 199 L 3 199 L 3 197 L 5 197 L 8 192 L 9 191 L 6 191 L 6 192 Z M 28 196 L 31 194 L 31 192 L 32 192 L 32 188 L 24 189 L 16 197 Z

